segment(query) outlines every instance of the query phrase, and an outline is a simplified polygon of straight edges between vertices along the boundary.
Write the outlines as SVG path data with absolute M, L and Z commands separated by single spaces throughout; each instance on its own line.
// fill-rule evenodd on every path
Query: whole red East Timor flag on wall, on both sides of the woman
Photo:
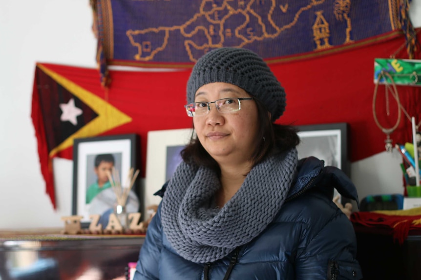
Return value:
M 376 126 L 372 112 L 373 61 L 388 57 L 404 43 L 404 36 L 400 36 L 331 56 L 270 64 L 287 93 L 286 111 L 277 123 L 348 123 L 351 162 L 383 151 L 385 135 Z M 110 70 L 112 83 L 104 88 L 96 69 L 38 63 L 32 120 L 42 174 L 53 205 L 51 160 L 55 156 L 72 159 L 74 138 L 138 134 L 141 139 L 138 158 L 141 175 L 145 177 L 147 132 L 192 126 L 192 119 L 183 107 L 189 74 L 190 70 Z M 398 90 L 402 106 L 419 119 L 421 109 L 417 104 L 421 102 L 421 88 L 399 86 Z M 384 106 L 378 108 L 382 124 L 396 122 L 394 107 L 389 116 Z M 410 127 L 410 122 L 402 118 L 391 135 L 394 143 L 411 139 Z

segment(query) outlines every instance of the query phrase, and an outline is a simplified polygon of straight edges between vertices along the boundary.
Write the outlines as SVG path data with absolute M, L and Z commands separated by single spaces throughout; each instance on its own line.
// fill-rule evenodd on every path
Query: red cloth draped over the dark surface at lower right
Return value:
M 354 212 L 351 215 L 351 222 L 354 225 L 362 225 L 366 227 L 391 229 L 393 238 L 402 244 L 408 237 L 410 230 L 420 230 L 421 224 L 414 223 L 420 220 L 421 215 L 413 216 L 397 216 L 386 215 L 375 212 Z

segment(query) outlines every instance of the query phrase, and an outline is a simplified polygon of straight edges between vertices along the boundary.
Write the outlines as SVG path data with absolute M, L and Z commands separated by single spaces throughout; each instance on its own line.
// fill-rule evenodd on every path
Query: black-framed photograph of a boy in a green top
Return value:
M 73 201 L 72 215 L 83 216 L 82 225 L 90 223 L 89 215 L 100 214 L 103 228 L 108 223 L 108 215 L 114 210 L 117 199 L 107 170 L 112 168 L 126 184 L 130 168 L 138 169 L 136 134 L 111 135 L 75 139 L 73 145 Z M 139 212 L 140 187 L 136 180 L 129 193 L 126 211 Z

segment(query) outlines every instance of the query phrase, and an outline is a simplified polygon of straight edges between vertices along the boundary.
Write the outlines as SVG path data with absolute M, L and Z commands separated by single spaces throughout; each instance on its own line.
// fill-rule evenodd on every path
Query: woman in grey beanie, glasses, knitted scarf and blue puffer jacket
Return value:
M 197 136 L 160 191 L 136 267 L 142 279 L 360 279 L 339 169 L 297 160 L 294 128 L 275 125 L 285 92 L 246 49 L 202 56 L 187 85 Z

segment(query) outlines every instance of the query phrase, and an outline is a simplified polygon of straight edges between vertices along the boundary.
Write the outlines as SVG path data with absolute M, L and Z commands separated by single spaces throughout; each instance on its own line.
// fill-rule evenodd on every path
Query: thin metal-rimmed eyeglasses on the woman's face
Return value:
M 213 102 L 193 102 L 184 105 L 187 115 L 189 117 L 206 115 L 210 111 L 210 104 L 215 103 L 215 108 L 221 113 L 232 113 L 241 109 L 240 100 L 252 100 L 252 97 L 247 98 L 222 98 Z

